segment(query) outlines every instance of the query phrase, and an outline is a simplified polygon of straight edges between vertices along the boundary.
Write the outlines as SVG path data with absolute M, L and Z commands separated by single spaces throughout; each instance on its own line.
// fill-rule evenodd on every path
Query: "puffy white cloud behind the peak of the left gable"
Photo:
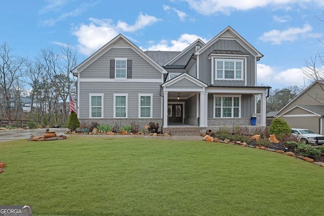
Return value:
M 90 55 L 105 45 L 108 41 L 118 35 L 119 32 L 136 31 L 154 22 L 160 21 L 153 16 L 140 14 L 134 25 L 118 21 L 115 25 L 111 19 L 90 18 L 90 24 L 82 24 L 74 27 L 72 34 L 77 37 L 79 42 L 79 52 Z M 133 40 L 135 41 L 135 40 Z

